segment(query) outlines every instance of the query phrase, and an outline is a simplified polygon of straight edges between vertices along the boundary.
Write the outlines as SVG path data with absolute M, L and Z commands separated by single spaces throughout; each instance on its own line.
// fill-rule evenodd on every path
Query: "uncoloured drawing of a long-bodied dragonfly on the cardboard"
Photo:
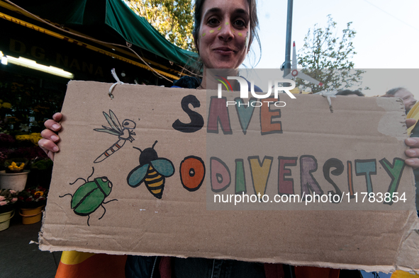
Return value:
M 132 131 L 132 129 L 135 129 L 136 126 L 134 121 L 125 119 L 123 120 L 121 125 L 118 121 L 118 118 L 112 110 L 109 110 L 109 115 L 106 114 L 106 112 L 104 112 L 104 116 L 111 127 L 105 127 L 104 125 L 102 125 L 102 127 L 104 127 L 103 129 L 94 129 L 94 131 L 106 132 L 108 134 L 117 135 L 119 140 L 116 141 L 116 143 L 113 144 L 109 149 L 104 151 L 103 154 L 98 156 L 94 163 L 104 161 L 106 158 L 111 156 L 111 154 L 118 151 L 118 149 L 121 149 L 125 144 L 125 141 L 134 141 L 133 135 L 135 135 L 135 132 Z

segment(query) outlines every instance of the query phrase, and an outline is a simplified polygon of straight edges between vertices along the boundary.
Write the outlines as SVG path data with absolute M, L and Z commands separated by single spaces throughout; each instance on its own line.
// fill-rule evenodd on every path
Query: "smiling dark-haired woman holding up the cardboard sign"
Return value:
M 249 46 L 257 38 L 255 0 L 197 0 L 195 5 L 194 40 L 203 62 L 203 76 L 206 74 L 206 69 L 237 69 L 244 61 Z M 191 88 L 208 88 L 209 85 L 205 77 L 201 83 L 189 84 L 187 86 Z M 59 150 L 55 143 L 60 141 L 60 137 L 55 132 L 61 129 L 58 123 L 61 118 L 62 115 L 57 113 L 53 116 L 53 120 L 45 122 L 45 127 L 48 129 L 42 132 L 43 139 L 39 141 L 39 145 L 50 158 L 54 158 L 54 153 Z M 418 147 L 419 139 L 408 139 L 406 144 Z M 419 149 L 410 149 L 406 151 L 406 155 L 411 157 L 406 160 L 408 166 L 419 166 Z M 138 274 L 150 277 L 155 262 L 157 262 L 155 257 L 129 257 L 126 274 L 131 275 L 128 277 L 137 277 Z M 261 264 L 233 260 L 163 258 L 160 261 L 160 269 L 164 266 L 166 270 L 172 270 L 174 277 L 267 277 L 269 275 L 268 271 L 265 273 Z

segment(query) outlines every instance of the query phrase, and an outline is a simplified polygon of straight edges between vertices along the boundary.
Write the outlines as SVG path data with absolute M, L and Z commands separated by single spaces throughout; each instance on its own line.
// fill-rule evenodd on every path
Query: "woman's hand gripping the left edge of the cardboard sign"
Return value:
M 52 120 L 46 120 L 44 125 L 47 129 L 44 129 L 40 134 L 43 139 L 38 141 L 38 145 L 41 149 L 45 151 L 49 158 L 54 161 L 54 154 L 59 151 L 58 146 L 55 144 L 60 141 L 57 133 L 61 129 L 60 120 L 62 119 L 62 114 L 60 112 L 55 113 L 52 116 Z

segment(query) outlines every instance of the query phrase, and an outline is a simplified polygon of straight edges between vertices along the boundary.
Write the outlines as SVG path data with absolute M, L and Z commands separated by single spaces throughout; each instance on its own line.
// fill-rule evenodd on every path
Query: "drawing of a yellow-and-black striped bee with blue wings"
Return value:
M 155 141 L 155 144 L 157 144 L 157 141 Z M 174 166 L 169 159 L 157 156 L 157 151 L 154 149 L 155 144 L 144 151 L 133 147 L 141 151 L 140 166 L 130 171 L 127 182 L 130 187 L 138 187 L 144 182 L 148 191 L 154 197 L 162 199 L 164 181 L 174 174 Z

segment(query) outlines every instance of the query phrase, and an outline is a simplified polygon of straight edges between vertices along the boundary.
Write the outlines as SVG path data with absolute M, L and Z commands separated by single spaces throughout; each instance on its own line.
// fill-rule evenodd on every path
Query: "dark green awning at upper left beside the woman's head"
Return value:
M 130 42 L 142 50 L 182 66 L 194 64 L 198 54 L 173 45 L 145 18 L 138 16 L 122 0 L 15 0 L 21 8 L 54 23 L 91 35 L 105 42 Z M 133 47 L 135 49 L 135 47 Z M 139 53 L 140 54 L 140 53 Z

